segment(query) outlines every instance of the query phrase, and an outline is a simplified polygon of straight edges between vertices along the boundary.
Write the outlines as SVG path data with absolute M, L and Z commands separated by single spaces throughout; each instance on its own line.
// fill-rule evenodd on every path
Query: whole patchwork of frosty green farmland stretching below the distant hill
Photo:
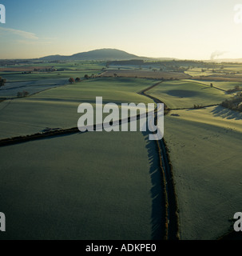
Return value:
M 61 71 L 2 70 L 7 82 L 0 89 L 0 139 L 77 127 L 77 107 L 94 107 L 96 97 L 118 106 L 164 102 L 180 238 L 217 239 L 231 230 L 242 202 L 242 115 L 220 106 L 231 97 L 226 90 L 241 86 L 240 74 L 226 74 L 233 67 L 240 72 L 240 65 L 164 63 L 121 62 L 115 69 L 106 62 L 65 62 L 51 63 Z M 209 65 L 220 74 L 201 71 Z M 81 82 L 70 84 L 70 77 Z M 19 90 L 28 97 L 18 98 Z M 10 219 L 9 233 L 0 239 L 164 238 L 165 156 L 148 134 L 57 133 L 2 146 L 0 154 L 0 200 Z

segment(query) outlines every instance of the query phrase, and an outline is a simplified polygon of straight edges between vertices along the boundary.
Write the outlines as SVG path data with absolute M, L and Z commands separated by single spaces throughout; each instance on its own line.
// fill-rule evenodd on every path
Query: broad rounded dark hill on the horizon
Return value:
M 131 60 L 131 59 L 144 59 L 144 58 L 134 54 L 128 54 L 123 50 L 116 50 L 116 49 L 91 50 L 91 51 L 80 53 L 80 54 L 73 54 L 71 56 L 50 55 L 43 58 L 39 58 L 39 60 L 42 60 L 42 61 L 67 61 L 67 60 L 115 61 L 115 60 Z

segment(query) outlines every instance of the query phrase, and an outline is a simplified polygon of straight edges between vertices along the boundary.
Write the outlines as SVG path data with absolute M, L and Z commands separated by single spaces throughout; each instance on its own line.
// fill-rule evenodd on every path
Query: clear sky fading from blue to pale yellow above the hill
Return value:
M 115 48 L 154 58 L 242 58 L 242 0 L 0 0 L 1 58 Z M 242 10 L 242 9 L 241 9 Z M 242 15 L 241 15 L 242 18 Z

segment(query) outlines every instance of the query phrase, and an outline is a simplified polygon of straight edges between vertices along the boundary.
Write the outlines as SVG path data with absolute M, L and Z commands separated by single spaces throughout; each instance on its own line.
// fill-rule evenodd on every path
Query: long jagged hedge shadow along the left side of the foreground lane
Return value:
M 162 190 L 161 170 L 156 143 L 149 141 L 149 133 L 143 132 L 149 156 L 149 174 L 152 182 L 152 239 L 162 240 L 165 237 L 165 200 Z

